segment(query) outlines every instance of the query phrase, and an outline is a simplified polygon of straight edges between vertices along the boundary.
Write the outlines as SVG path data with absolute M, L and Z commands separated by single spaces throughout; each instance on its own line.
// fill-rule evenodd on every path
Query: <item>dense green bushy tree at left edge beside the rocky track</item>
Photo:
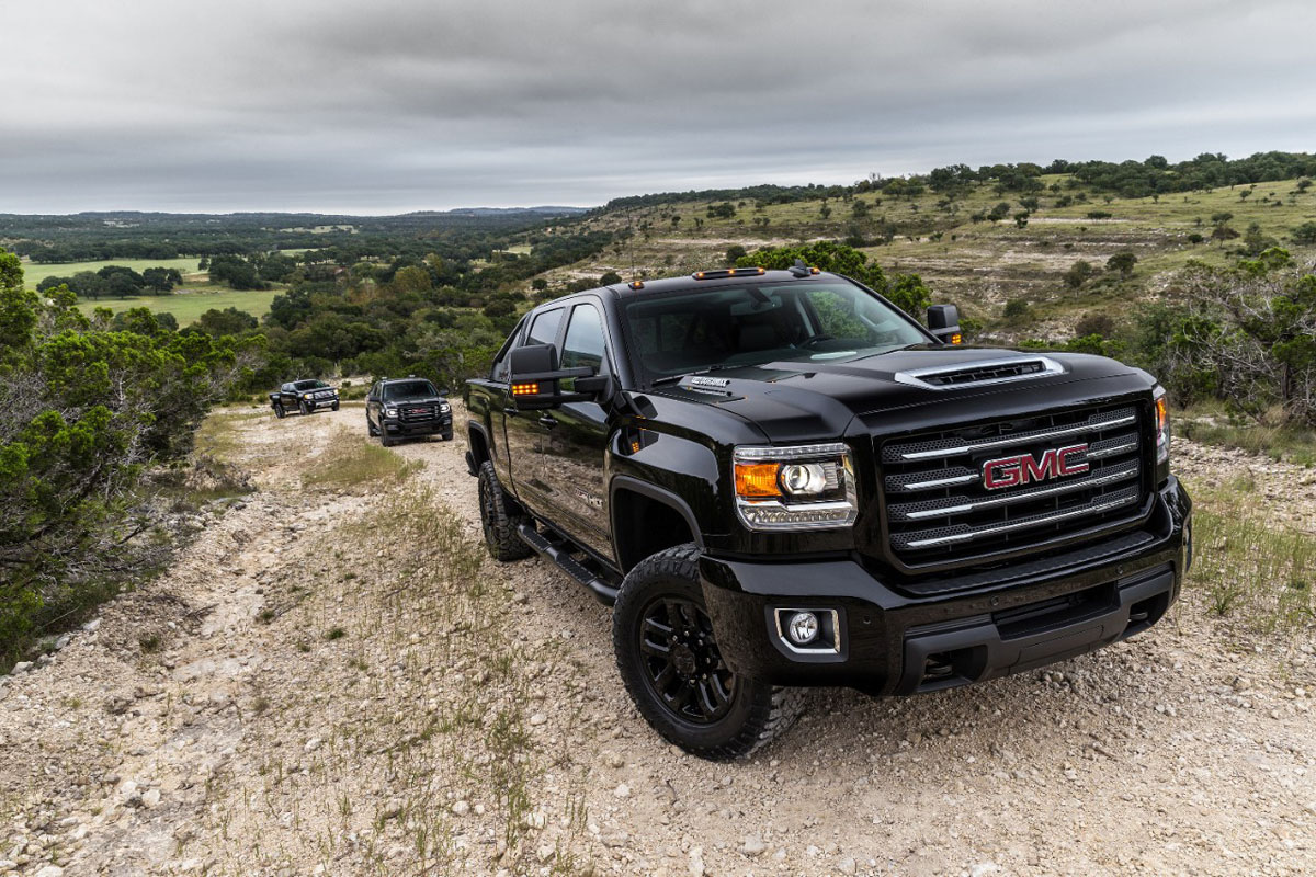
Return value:
M 95 275 L 93 275 L 95 276 Z M 88 320 L 67 288 L 26 292 L 0 255 L 0 661 L 158 561 L 147 467 L 180 459 L 258 342 L 163 329 L 146 309 Z M 108 325 L 107 325 L 108 323 Z

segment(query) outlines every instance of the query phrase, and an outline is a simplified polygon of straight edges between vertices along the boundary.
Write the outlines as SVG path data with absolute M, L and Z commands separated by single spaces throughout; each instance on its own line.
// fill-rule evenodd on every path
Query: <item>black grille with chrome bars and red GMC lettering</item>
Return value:
M 1142 423 L 1123 404 L 886 443 L 891 552 L 941 567 L 1128 521 L 1146 496 Z

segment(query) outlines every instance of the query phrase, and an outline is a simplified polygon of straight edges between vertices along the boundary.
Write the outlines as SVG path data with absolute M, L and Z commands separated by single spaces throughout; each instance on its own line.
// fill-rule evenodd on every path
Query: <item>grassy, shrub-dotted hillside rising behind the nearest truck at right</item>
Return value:
M 991 185 L 976 185 L 953 201 L 934 192 L 913 199 L 879 192 L 858 195 L 851 201 L 830 199 L 825 202 L 829 216 L 822 216 L 820 199 L 761 208 L 753 201 L 733 202 L 732 218 L 709 217 L 709 201 L 657 205 L 632 210 L 629 216 L 615 212 L 588 224 L 615 229 L 633 224 L 634 238 L 588 263 L 557 272 L 561 276 L 553 280 L 596 277 L 609 270 L 629 277 L 632 262 L 646 276 L 671 276 L 725 264 L 726 249 L 733 243 L 753 251 L 758 246 L 845 238 L 853 227 L 874 238 L 883 224 L 892 224 L 898 229 L 894 239 L 863 249 L 884 270 L 919 273 L 936 300 L 954 301 L 973 317 L 998 326 L 1004 322 L 1005 302 L 1024 298 L 1033 305 L 1029 317 L 1013 321 L 1011 327 L 1025 335 L 1063 339 L 1084 313 L 1119 316 L 1128 302 L 1159 292 L 1190 259 L 1232 264 L 1242 241 L 1221 246 L 1211 239 L 1216 225 L 1212 216 L 1219 213 L 1232 213 L 1227 224 L 1240 234 L 1257 222 L 1299 259 L 1316 258 L 1316 247 L 1290 241 L 1294 227 L 1316 220 L 1316 188 L 1298 192 L 1295 180 L 1159 199 L 1109 200 L 1083 185 L 1070 188 L 1063 175 L 1044 176 L 1041 181 L 1048 188 L 1036 195 L 1038 208 L 1024 227 L 1017 227 L 1013 220 L 1023 210 L 1020 195 L 998 193 Z M 1053 184 L 1058 191 L 1050 191 Z M 1084 192 L 1084 202 L 1074 200 L 1057 206 L 1065 196 L 1076 199 Z M 854 216 L 855 201 L 866 205 L 866 217 Z M 1001 201 L 1009 205 L 1008 218 L 970 220 Z M 1108 213 L 1109 218 L 1092 220 L 1088 217 L 1092 212 Z M 1194 245 L 1192 234 L 1205 239 Z M 1078 291 L 1065 285 L 1063 273 L 1075 262 L 1082 259 L 1103 268 L 1111 255 L 1124 250 L 1138 258 L 1130 277 L 1099 275 L 1095 283 Z

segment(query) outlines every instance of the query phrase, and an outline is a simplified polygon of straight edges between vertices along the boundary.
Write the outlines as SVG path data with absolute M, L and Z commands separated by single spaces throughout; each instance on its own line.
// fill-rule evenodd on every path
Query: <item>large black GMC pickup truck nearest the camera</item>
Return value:
M 466 389 L 490 551 L 615 604 L 641 713 L 712 759 L 791 686 L 934 692 L 1155 625 L 1192 557 L 1165 391 L 928 317 L 804 266 L 537 306 Z

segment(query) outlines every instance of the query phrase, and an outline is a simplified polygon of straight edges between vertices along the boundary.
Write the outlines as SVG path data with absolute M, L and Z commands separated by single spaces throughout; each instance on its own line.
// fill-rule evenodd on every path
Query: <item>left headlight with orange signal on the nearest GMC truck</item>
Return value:
M 736 513 L 750 530 L 821 530 L 854 523 L 859 504 L 845 444 L 737 447 Z

